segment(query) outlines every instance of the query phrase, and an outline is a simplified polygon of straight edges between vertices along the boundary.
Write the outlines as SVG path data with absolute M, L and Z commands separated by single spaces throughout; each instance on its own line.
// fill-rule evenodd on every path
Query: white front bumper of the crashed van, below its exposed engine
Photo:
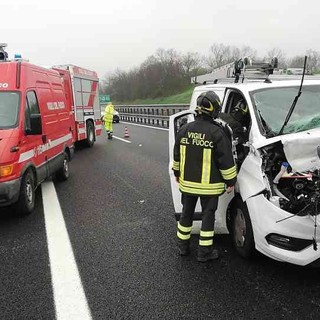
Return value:
M 319 232 L 313 240 L 314 217 L 294 216 L 272 204 L 264 195 L 249 198 L 246 203 L 258 251 L 272 259 L 300 266 L 320 261 Z M 284 240 L 287 240 L 285 244 Z

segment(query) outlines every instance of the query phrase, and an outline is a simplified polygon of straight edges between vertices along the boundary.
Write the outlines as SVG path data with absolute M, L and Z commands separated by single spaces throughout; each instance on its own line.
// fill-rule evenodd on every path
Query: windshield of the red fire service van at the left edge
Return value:
M 0 92 L 0 130 L 17 126 L 19 93 Z

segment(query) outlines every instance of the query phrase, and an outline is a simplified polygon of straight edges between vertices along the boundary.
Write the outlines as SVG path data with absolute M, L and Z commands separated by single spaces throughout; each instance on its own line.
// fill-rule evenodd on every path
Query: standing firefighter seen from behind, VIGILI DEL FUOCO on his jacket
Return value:
M 213 248 L 215 211 L 218 198 L 233 191 L 236 166 L 231 141 L 221 124 L 214 119 L 220 112 L 219 97 L 213 92 L 202 93 L 197 99 L 195 121 L 184 124 L 174 146 L 173 171 L 182 193 L 182 213 L 177 226 L 179 253 L 190 253 L 193 215 L 198 198 L 202 207 L 199 237 L 199 262 L 217 259 Z

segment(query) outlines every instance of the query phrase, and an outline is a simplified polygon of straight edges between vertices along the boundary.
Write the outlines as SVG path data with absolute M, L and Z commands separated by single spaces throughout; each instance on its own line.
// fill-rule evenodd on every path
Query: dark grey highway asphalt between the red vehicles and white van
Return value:
M 125 126 L 131 143 L 116 139 Z M 54 181 L 92 319 L 320 318 L 320 269 L 244 260 L 228 235 L 215 237 L 217 261 L 196 261 L 196 236 L 180 257 L 168 131 L 119 123 L 114 135 L 78 150 L 69 180 Z M 62 319 L 41 189 L 32 215 L 0 212 L 0 319 Z

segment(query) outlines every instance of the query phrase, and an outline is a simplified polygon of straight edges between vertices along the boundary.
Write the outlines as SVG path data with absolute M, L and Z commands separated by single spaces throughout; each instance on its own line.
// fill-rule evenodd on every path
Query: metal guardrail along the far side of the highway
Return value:
M 169 117 L 189 109 L 189 104 L 115 105 L 115 109 L 119 112 L 120 121 L 168 128 Z

